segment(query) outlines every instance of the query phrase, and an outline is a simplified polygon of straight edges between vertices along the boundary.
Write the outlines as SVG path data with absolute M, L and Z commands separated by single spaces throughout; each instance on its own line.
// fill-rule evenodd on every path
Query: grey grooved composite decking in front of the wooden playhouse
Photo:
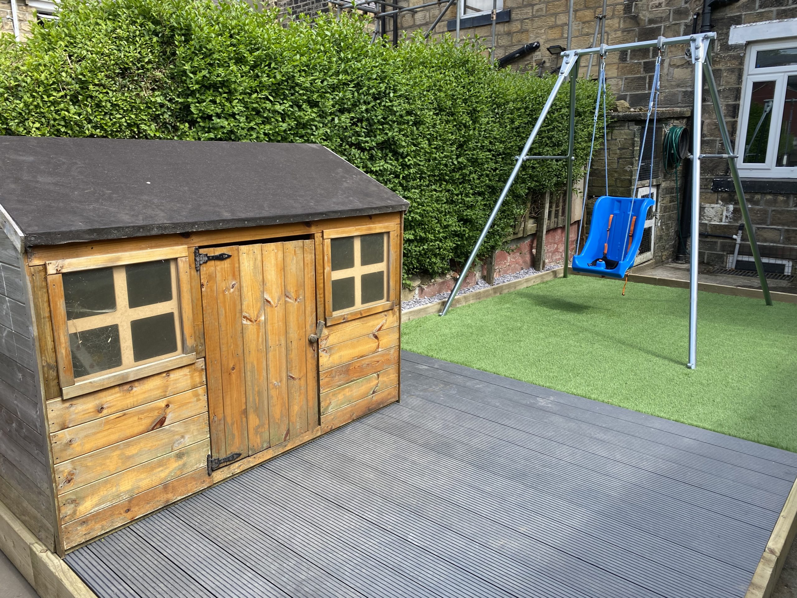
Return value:
M 744 596 L 797 454 L 402 353 L 402 401 L 70 553 L 97 596 Z

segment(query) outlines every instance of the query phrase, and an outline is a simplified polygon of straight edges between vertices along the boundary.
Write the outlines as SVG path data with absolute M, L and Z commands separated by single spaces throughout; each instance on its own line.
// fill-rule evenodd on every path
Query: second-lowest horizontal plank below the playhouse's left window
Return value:
M 124 501 L 191 471 L 206 469 L 209 451 L 210 443 L 202 440 L 190 447 L 164 454 L 162 457 L 151 459 L 108 478 L 61 494 L 58 498 L 61 523 L 74 521 L 78 517 Z

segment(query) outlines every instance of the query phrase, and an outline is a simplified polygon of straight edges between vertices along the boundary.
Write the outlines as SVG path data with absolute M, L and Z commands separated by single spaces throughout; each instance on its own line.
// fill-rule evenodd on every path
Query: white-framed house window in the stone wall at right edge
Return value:
M 797 37 L 748 45 L 739 118 L 740 174 L 797 178 Z

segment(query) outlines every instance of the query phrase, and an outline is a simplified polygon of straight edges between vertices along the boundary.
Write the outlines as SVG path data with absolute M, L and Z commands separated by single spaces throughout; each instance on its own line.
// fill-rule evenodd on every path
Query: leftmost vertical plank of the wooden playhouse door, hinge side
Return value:
M 209 252 L 210 253 L 210 252 Z M 210 419 L 210 449 L 214 458 L 226 457 L 227 442 L 224 430 L 224 391 L 222 388 L 222 353 L 218 323 L 218 289 L 214 266 L 207 262 L 202 274 L 202 318 L 205 329 L 205 360 L 207 370 L 207 407 Z

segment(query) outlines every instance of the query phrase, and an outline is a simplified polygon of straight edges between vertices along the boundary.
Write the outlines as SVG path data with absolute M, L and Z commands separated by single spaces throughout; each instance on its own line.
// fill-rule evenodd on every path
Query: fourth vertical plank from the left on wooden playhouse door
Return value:
M 262 251 L 269 376 L 269 444 L 274 446 L 284 443 L 290 436 L 282 243 L 267 243 L 262 246 Z

